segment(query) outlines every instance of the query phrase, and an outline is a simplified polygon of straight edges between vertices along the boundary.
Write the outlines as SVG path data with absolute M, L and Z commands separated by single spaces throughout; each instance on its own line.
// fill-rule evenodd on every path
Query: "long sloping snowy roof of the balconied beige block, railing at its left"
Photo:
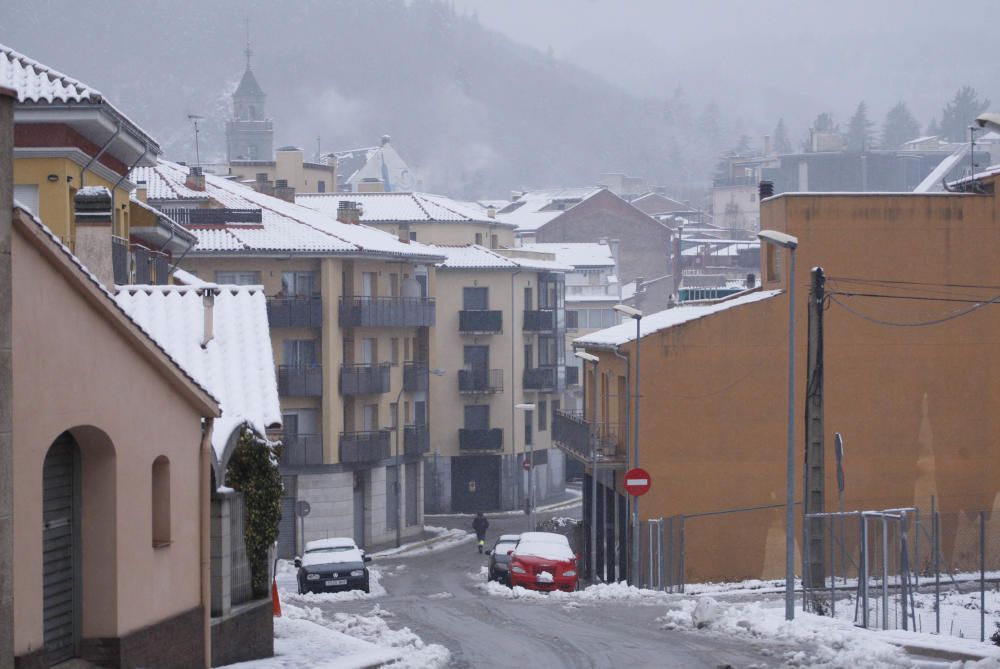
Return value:
M 154 167 L 133 171 L 133 179 L 146 181 L 147 187 L 157 183 L 155 191 L 147 191 L 147 199 L 157 206 L 169 207 L 171 201 L 188 199 L 184 192 L 187 174 L 186 167 L 161 160 Z M 188 225 L 187 229 L 198 238 L 198 246 L 191 252 L 193 256 L 277 252 L 388 256 L 414 262 L 440 259 L 424 244 L 401 242 L 395 235 L 367 225 L 340 223 L 315 209 L 258 193 L 212 174 L 205 175 L 204 191 L 191 192 L 207 196 L 212 204 L 223 208 L 261 212 L 259 225 Z

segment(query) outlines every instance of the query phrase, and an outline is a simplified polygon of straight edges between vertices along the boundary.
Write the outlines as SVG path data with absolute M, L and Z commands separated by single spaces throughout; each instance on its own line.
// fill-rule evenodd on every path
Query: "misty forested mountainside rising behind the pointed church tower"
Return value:
M 3 4 L 0 41 L 97 87 L 175 160 L 194 159 L 188 114 L 206 117 L 202 160 L 224 156 L 247 22 L 276 146 L 313 156 L 389 134 L 426 190 L 495 197 L 624 171 L 686 193 L 735 143 L 713 105 L 629 94 L 434 0 Z

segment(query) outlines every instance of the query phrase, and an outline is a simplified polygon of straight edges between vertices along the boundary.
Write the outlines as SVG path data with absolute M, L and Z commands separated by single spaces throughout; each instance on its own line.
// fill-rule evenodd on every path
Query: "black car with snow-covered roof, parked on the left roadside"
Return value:
M 369 592 L 368 567 L 371 558 L 353 539 L 336 537 L 306 544 L 305 553 L 295 558 L 299 594 L 364 590 Z

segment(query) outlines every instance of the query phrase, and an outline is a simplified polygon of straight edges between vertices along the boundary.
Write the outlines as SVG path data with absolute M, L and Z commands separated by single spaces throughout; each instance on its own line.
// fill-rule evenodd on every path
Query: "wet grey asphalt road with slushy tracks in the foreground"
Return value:
M 575 509 L 538 514 L 579 516 Z M 468 527 L 469 517 L 437 516 L 428 525 Z M 524 531 L 524 516 L 491 517 L 487 539 Z M 668 631 L 665 604 L 512 600 L 488 595 L 486 564 L 474 542 L 403 558 L 378 558 L 387 594 L 318 604 L 326 612 L 368 613 L 377 603 L 394 628 L 409 627 L 451 651 L 452 667 L 771 667 L 774 646 L 757 647 L 705 632 Z M 406 565 L 398 569 L 398 565 Z

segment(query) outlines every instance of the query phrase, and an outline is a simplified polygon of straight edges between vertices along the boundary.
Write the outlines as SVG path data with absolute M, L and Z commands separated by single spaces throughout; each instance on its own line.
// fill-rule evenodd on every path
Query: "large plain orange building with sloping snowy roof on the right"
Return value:
M 964 536 L 962 525 L 974 523 L 976 512 L 1000 511 L 997 179 L 983 176 L 979 193 L 785 194 L 761 204 L 762 228 L 799 241 L 797 498 L 805 453 L 809 270 L 819 266 L 829 294 L 826 510 L 837 507 L 833 443 L 840 432 L 845 510 L 916 506 L 926 512 L 933 498 L 956 519 L 944 529 L 946 552 L 960 550 L 957 535 Z M 757 290 L 641 321 L 640 464 L 653 479 L 641 500 L 642 518 L 776 507 L 689 519 L 688 582 L 777 577 L 784 569 L 789 252 L 763 247 Z M 620 520 L 624 467 L 615 468 L 613 456 L 620 463 L 627 450 L 635 324 L 586 335 L 574 346 L 600 358 L 596 420 L 616 426 L 602 430 L 619 436 L 606 454 L 605 471 L 614 475 L 599 476 L 599 499 L 614 503 Z M 583 375 L 587 424 L 594 419 L 590 367 Z M 554 438 L 573 453 L 572 430 L 560 429 L 570 420 L 557 416 L 553 427 Z M 575 452 L 585 455 L 588 448 L 576 444 Z M 599 511 L 598 518 L 606 516 L 616 514 Z M 990 520 L 993 536 L 998 516 Z M 601 523 L 608 534 L 621 524 Z

